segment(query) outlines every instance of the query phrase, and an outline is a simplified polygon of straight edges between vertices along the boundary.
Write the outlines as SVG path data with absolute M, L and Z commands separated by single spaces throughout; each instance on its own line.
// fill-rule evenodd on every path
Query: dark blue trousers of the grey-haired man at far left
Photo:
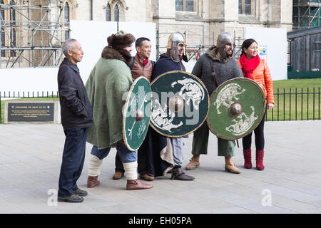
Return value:
M 76 182 L 81 176 L 85 160 L 87 128 L 63 129 L 66 135 L 59 175 L 59 197 L 68 197 L 78 189 Z

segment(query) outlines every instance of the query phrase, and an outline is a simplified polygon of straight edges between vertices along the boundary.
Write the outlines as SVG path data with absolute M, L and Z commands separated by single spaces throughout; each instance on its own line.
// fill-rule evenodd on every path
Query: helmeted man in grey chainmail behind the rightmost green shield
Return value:
M 193 75 L 200 78 L 208 89 L 208 93 L 220 86 L 220 84 L 232 78 L 243 77 L 243 73 L 233 57 L 234 37 L 227 32 L 220 33 L 216 46 L 209 48 L 195 63 Z M 193 170 L 200 165 L 200 155 L 208 153 L 209 128 L 204 123 L 193 135 L 192 155 L 186 170 Z M 232 173 L 240 173 L 232 161 L 234 156 L 234 140 L 218 138 L 218 156 L 225 157 L 225 170 Z

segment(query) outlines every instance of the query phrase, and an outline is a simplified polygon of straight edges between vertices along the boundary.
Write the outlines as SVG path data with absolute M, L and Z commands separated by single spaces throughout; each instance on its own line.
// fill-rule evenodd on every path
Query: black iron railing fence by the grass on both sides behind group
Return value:
M 274 93 L 275 104 L 267 110 L 266 121 L 321 120 L 320 87 L 280 89 Z M 16 98 L 58 98 L 58 92 L 0 92 L 0 123 L 4 118 L 4 99 Z

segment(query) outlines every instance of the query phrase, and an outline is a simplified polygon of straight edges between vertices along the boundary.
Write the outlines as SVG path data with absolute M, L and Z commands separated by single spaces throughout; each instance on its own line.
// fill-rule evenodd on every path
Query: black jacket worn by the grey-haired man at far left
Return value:
M 67 58 L 59 66 L 58 92 L 63 128 L 88 128 L 93 125 L 93 108 L 79 69 Z

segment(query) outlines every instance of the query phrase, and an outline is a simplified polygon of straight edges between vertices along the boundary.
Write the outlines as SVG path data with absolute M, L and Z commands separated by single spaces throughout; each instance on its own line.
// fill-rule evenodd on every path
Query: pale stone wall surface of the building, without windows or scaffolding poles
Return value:
M 180 31 L 185 33 L 186 41 L 190 49 L 197 49 L 200 45 L 212 46 L 216 43 L 219 33 L 229 31 L 233 33 L 238 45 L 243 41 L 244 28 L 247 26 L 271 28 L 287 28 L 292 30 L 292 0 L 252 0 L 252 14 L 238 14 L 238 0 L 195 0 L 195 11 L 175 11 L 175 0 L 121 0 L 126 7 L 119 7 L 120 21 L 154 22 L 159 33 L 160 51 L 163 52 L 167 45 L 170 33 Z M 26 1 L 17 0 L 17 4 L 26 4 Z M 47 4 L 51 6 L 48 15 L 41 18 L 39 11 L 32 12 L 32 20 L 58 21 L 58 0 L 31 0 L 33 5 Z M 90 20 L 91 1 L 63 0 L 70 7 L 71 20 Z M 106 21 L 106 5 L 113 7 L 117 0 L 93 0 L 93 21 Z M 267 20 L 267 8 L 269 7 L 269 18 Z M 45 11 L 42 15 L 45 14 Z M 63 16 L 63 15 L 62 15 Z M 16 14 L 17 20 L 25 20 L 23 16 Z M 113 21 L 113 18 L 112 18 Z M 68 26 L 67 26 L 68 27 Z M 54 28 L 54 27 L 53 27 Z M 18 28 L 17 28 L 18 29 Z M 23 27 L 16 31 L 19 46 L 29 46 L 29 31 Z M 55 36 L 64 37 L 62 31 L 55 31 Z M 48 46 L 51 36 L 46 31 L 37 32 L 34 36 L 34 46 Z M 53 39 L 51 46 L 59 46 L 60 41 Z M 156 45 L 156 43 L 155 43 Z M 163 47 L 163 48 L 162 48 Z M 41 55 L 37 53 L 30 61 L 36 64 L 41 62 Z M 24 58 L 29 59 L 26 51 Z M 5 58 L 3 58 L 4 60 Z M 53 62 L 49 61 L 48 65 Z M 21 59 L 21 66 L 29 66 L 28 61 Z M 4 61 L 2 61 L 4 67 Z

